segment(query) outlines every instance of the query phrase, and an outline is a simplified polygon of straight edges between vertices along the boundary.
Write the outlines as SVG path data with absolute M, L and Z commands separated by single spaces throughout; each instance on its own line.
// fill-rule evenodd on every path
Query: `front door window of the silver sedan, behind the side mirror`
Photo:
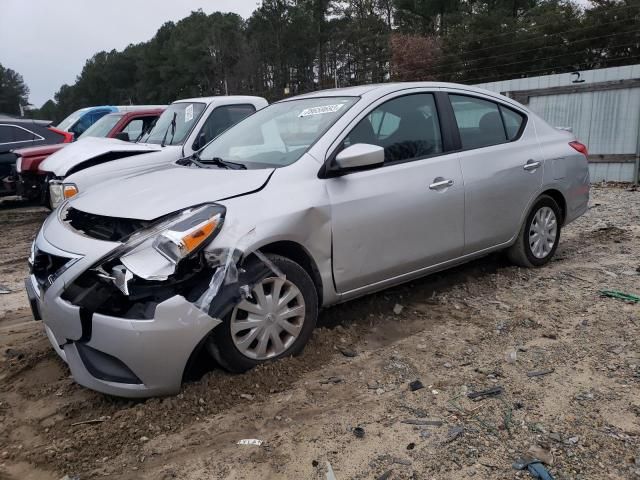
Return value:
M 442 136 L 435 99 L 430 93 L 394 98 L 376 107 L 345 138 L 384 148 L 385 163 L 442 153 Z

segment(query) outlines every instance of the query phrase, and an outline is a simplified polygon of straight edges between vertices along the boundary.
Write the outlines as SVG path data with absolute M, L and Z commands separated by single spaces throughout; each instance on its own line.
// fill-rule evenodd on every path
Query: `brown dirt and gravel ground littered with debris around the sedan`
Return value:
M 493 255 L 340 305 L 298 358 L 136 402 L 69 378 L 22 284 L 46 212 L 1 208 L 0 479 L 531 478 L 532 448 L 557 479 L 640 478 L 640 304 L 598 293 L 640 294 L 640 192 L 594 187 L 545 268 Z

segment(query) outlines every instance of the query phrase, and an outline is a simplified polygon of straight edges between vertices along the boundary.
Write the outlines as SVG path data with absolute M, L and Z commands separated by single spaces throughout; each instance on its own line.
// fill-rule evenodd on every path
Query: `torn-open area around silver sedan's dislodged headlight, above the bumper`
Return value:
M 220 318 L 225 309 L 212 309 L 213 299 L 223 285 L 237 284 L 240 252 L 204 247 L 220 231 L 225 213 L 223 206 L 209 204 L 149 222 L 67 208 L 61 218 L 69 227 L 121 245 L 75 279 L 63 298 L 89 312 L 151 319 L 160 303 L 182 296 Z

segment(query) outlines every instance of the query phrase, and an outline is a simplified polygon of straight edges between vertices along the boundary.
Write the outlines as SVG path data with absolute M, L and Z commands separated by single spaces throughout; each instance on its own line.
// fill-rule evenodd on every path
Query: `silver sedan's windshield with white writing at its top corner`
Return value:
M 206 163 L 218 158 L 249 168 L 291 165 L 356 101 L 315 97 L 274 103 L 213 140 L 200 159 Z

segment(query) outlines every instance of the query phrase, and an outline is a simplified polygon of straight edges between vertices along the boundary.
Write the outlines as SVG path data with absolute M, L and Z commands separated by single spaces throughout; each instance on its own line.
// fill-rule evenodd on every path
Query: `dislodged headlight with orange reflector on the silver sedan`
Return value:
M 124 293 L 131 278 L 127 272 L 145 280 L 166 280 L 180 261 L 195 255 L 215 238 L 222 228 L 225 211 L 221 205 L 208 204 L 170 216 L 133 234 L 101 262 L 98 270 Z M 105 268 L 116 259 L 121 265 Z

